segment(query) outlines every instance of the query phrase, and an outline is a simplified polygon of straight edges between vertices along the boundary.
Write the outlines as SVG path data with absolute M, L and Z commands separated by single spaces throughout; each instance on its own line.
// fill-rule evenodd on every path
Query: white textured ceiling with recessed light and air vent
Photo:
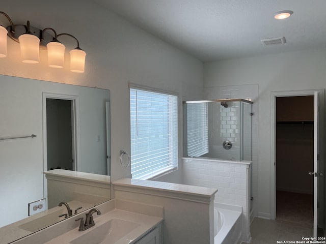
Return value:
M 94 0 L 203 62 L 325 47 L 325 0 Z M 274 14 L 291 10 L 284 20 Z M 285 37 L 265 46 L 261 39 Z

